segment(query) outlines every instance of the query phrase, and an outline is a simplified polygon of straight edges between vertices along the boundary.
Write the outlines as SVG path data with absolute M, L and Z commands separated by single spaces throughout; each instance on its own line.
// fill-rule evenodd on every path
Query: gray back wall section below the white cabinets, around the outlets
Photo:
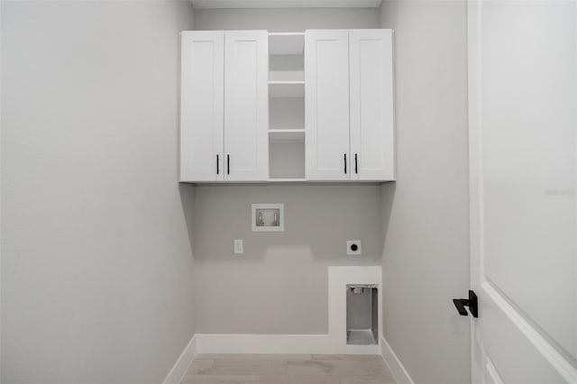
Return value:
M 326 334 L 327 267 L 380 264 L 380 186 L 198 186 L 194 200 L 198 333 Z M 285 232 L 253 233 L 252 203 L 284 203 Z

